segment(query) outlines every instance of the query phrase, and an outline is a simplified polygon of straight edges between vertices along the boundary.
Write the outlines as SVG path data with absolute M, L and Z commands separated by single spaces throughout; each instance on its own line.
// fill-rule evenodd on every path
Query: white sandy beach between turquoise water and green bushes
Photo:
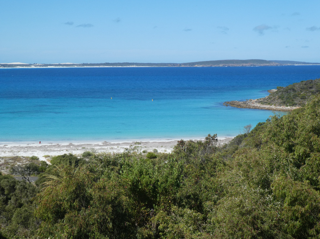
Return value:
M 200 139 L 203 140 L 203 139 Z M 218 145 L 223 145 L 230 142 L 232 138 L 219 138 Z M 126 148 L 132 146 L 138 146 L 139 151 L 153 151 L 170 153 L 176 145 L 177 140 L 159 140 L 153 142 L 140 142 L 139 145 L 134 145 L 136 142 L 8 142 L 0 143 L 0 157 L 12 157 L 12 156 L 37 156 L 40 160 L 46 161 L 44 156 L 56 156 L 65 153 L 72 153 L 75 155 L 81 155 L 85 151 L 92 151 L 95 153 L 120 153 Z

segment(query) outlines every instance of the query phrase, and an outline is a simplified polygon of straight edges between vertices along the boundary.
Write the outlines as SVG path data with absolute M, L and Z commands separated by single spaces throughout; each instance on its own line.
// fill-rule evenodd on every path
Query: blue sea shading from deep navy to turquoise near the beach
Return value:
M 223 102 L 319 77 L 320 66 L 0 69 L 0 142 L 235 136 L 273 113 Z

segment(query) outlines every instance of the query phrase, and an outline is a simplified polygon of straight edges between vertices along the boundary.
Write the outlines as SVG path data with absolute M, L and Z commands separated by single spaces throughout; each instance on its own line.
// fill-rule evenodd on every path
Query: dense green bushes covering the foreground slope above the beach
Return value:
M 58 156 L 35 184 L 0 175 L 0 237 L 320 238 L 319 122 L 316 95 L 223 147 L 209 134 L 156 158 Z

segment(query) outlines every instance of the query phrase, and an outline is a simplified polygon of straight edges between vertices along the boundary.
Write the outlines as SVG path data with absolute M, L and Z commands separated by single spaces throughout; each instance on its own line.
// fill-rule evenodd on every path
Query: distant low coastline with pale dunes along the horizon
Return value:
M 56 63 L 56 64 L 26 64 L 20 62 L 0 63 L 0 68 L 35 68 L 35 67 L 225 67 L 225 66 L 296 66 L 320 65 L 320 63 L 282 60 L 215 60 L 188 63 Z

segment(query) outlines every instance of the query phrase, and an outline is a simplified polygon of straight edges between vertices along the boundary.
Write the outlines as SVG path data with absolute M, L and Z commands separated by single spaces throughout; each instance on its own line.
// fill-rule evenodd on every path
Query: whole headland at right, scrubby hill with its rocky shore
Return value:
M 238 108 L 292 111 L 307 104 L 308 100 L 320 92 L 320 78 L 301 81 L 286 87 L 268 90 L 270 95 L 246 101 L 226 101 L 223 104 Z

